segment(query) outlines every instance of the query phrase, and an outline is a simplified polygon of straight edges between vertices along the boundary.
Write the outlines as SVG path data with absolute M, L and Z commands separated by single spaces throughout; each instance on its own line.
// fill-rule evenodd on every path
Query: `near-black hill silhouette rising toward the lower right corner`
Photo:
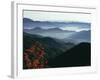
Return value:
M 50 67 L 74 67 L 91 65 L 90 43 L 80 43 L 49 61 Z

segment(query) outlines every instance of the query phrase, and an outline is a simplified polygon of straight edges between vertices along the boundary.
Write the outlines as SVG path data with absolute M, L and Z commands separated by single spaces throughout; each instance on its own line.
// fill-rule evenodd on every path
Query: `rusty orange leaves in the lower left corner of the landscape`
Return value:
M 38 44 L 36 44 L 38 45 Z M 29 58 L 29 54 L 34 55 L 34 59 Z M 44 68 L 48 61 L 44 61 L 41 63 L 41 58 L 44 58 L 44 48 L 40 46 L 35 46 L 33 45 L 31 48 L 28 48 L 25 50 L 24 55 L 23 55 L 23 60 L 25 63 L 25 66 L 30 69 L 30 68 Z

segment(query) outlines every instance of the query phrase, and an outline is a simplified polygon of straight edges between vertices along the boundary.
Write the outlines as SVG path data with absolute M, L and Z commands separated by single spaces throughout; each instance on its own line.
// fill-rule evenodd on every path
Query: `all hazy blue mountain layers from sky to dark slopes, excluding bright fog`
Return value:
M 63 41 L 71 42 L 90 42 L 91 41 L 91 31 L 69 31 L 62 30 L 61 26 L 79 26 L 79 27 L 90 27 L 89 23 L 81 22 L 49 22 L 49 21 L 33 21 L 28 18 L 23 18 L 24 32 L 29 34 L 41 35 L 44 37 L 51 37 L 62 39 Z M 31 27 L 31 28 L 30 28 Z M 48 29 L 44 27 L 50 27 Z

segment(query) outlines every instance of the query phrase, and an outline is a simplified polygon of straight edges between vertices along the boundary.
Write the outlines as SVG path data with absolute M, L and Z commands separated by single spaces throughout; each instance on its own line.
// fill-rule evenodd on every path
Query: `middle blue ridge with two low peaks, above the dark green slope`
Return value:
M 75 31 L 62 30 L 60 28 L 43 29 L 40 27 L 36 27 L 33 29 L 24 29 L 24 32 L 57 39 L 64 39 L 67 36 L 75 33 Z

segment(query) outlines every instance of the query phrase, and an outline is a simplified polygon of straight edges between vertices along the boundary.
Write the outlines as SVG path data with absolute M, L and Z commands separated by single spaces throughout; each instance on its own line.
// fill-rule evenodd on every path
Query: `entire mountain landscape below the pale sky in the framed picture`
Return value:
M 23 18 L 23 69 L 91 66 L 90 23 Z

